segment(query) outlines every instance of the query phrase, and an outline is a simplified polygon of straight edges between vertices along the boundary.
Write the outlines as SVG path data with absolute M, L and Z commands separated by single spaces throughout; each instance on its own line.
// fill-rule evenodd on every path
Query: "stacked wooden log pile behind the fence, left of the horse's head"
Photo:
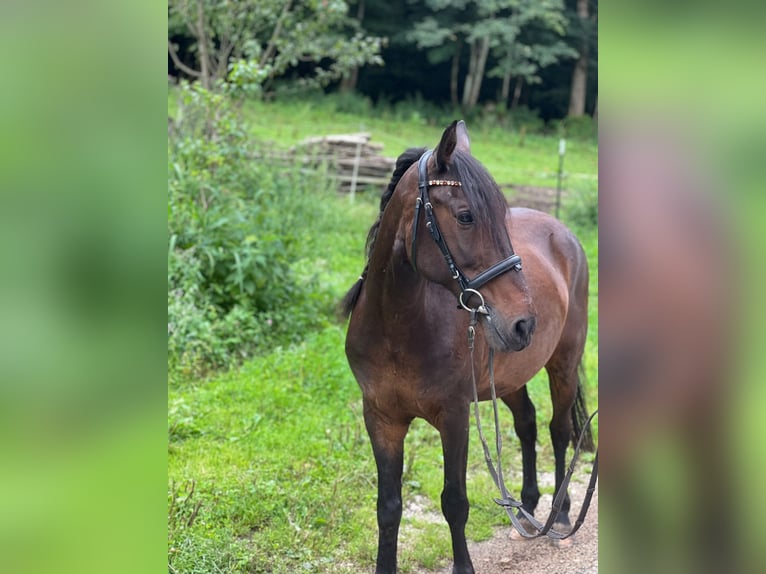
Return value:
M 306 138 L 291 151 L 304 163 L 326 162 L 338 190 L 355 193 L 367 187 L 380 191 L 388 185 L 396 160 L 380 155 L 382 149 L 382 144 L 370 142 L 369 133 L 358 133 Z

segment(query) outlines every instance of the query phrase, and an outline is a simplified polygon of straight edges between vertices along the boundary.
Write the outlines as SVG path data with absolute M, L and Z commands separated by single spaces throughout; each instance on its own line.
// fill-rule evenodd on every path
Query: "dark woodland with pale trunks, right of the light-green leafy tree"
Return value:
M 385 69 L 362 68 L 359 89 L 376 102 L 420 92 L 431 103 L 458 105 L 470 92 L 469 79 L 475 85 L 483 73 L 478 106 L 463 99 L 465 109 L 490 101 L 525 103 L 545 118 L 561 118 L 569 105 L 572 68 L 588 49 L 590 109 L 597 92 L 598 3 L 590 4 L 591 18 L 581 22 L 574 0 L 366 0 L 363 27 L 390 41 L 382 52 Z M 584 24 L 588 42 L 579 33 Z M 551 65 L 554 59 L 558 63 Z

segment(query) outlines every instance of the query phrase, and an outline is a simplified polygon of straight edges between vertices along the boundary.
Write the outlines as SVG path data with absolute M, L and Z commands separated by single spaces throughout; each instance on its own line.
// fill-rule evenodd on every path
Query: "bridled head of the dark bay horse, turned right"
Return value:
M 465 123 L 453 122 L 413 169 L 417 198 L 412 225 L 404 228 L 413 268 L 478 318 L 492 348 L 521 351 L 531 342 L 536 313 L 506 227 L 505 196 L 471 155 Z

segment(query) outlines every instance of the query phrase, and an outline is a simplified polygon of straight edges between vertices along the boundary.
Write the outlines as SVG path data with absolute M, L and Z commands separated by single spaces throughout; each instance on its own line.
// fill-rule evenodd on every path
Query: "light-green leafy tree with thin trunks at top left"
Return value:
M 223 79 L 259 90 L 301 66 L 304 84 L 327 85 L 355 67 L 382 64 L 381 39 L 366 36 L 344 0 L 169 0 L 168 53 L 203 87 Z M 173 35 L 193 39 L 185 62 Z

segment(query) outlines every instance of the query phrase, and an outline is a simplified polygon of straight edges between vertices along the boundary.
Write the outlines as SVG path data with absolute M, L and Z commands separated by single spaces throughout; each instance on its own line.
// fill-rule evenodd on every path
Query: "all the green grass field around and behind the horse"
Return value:
M 170 106 L 172 110 L 172 105 Z M 359 129 L 396 156 L 413 145 L 434 146 L 441 127 L 330 115 L 316 104 L 251 104 L 253 137 L 291 145 L 308 135 Z M 471 130 L 469 125 L 469 130 Z M 499 182 L 552 185 L 556 138 L 500 130 L 471 131 L 473 152 Z M 596 186 L 594 144 L 568 148 L 569 169 L 586 188 Z M 555 180 L 554 180 L 555 181 Z M 553 183 L 555 185 L 555 183 Z M 344 225 L 307 241 L 295 262 L 312 269 L 338 298 L 364 265 L 367 230 L 377 196 L 328 195 Z M 585 369 L 591 410 L 597 396 L 597 258 L 595 227 L 576 227 L 591 268 L 590 332 Z M 168 391 L 168 549 L 171 572 L 371 571 L 377 543 L 375 465 L 361 416 L 361 394 L 343 353 L 344 324 L 306 333 L 289 348 L 275 348 L 241 368 L 204 381 L 176 383 Z M 547 381 L 529 383 L 538 407 L 541 470 L 551 470 L 547 433 Z M 489 405 L 483 405 L 489 408 Z M 489 416 L 489 411 L 484 411 Z M 505 465 L 518 493 L 520 455 L 510 413 L 502 413 Z M 406 442 L 405 506 L 440 515 L 441 447 L 437 433 L 416 421 Z M 584 471 L 583 471 L 584 472 Z M 494 486 L 471 435 L 467 533 L 479 540 L 507 518 L 492 502 Z M 405 518 L 400 568 L 434 567 L 449 559 L 449 531 L 442 520 Z

